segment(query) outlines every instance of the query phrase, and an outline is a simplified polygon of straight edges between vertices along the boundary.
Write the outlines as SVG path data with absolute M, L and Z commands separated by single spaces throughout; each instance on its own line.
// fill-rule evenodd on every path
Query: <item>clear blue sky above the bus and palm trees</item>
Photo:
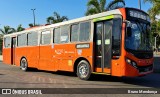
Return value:
M 106 0 L 107 4 L 112 0 Z M 36 24 L 46 24 L 46 18 L 58 12 L 61 16 L 67 16 L 70 20 L 85 15 L 88 0 L 0 0 L 0 28 L 10 26 L 17 28 L 22 24 L 28 28 L 33 23 L 33 11 L 35 10 Z M 125 0 L 126 7 L 138 8 L 138 0 Z M 143 3 L 142 10 L 147 11 L 151 4 Z

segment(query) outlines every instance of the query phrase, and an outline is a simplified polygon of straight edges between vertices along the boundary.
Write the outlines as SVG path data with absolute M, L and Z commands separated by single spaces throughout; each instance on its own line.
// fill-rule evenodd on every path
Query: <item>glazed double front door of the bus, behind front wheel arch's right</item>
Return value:
M 94 22 L 95 72 L 111 73 L 112 24 L 111 19 Z

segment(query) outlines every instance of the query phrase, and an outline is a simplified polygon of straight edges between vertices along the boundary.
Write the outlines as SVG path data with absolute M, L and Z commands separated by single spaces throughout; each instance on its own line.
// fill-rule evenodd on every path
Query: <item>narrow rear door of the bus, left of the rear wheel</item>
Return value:
M 11 40 L 11 64 L 15 65 L 16 37 Z

